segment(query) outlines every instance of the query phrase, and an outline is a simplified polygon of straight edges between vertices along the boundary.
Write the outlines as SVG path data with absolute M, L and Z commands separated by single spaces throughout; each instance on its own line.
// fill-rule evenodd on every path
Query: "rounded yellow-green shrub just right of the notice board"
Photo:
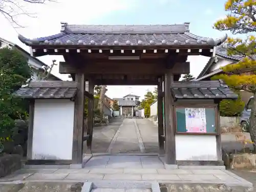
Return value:
M 244 105 L 240 95 L 237 100 L 224 99 L 220 102 L 220 115 L 224 117 L 239 116 L 244 110 Z

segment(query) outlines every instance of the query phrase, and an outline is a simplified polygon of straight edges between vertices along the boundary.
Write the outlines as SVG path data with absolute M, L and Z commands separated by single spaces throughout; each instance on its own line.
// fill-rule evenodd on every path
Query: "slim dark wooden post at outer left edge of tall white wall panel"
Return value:
M 32 145 L 33 145 L 33 130 L 34 130 L 34 111 L 35 100 L 29 101 L 29 130 L 28 130 L 28 144 L 27 144 L 27 160 L 32 159 Z

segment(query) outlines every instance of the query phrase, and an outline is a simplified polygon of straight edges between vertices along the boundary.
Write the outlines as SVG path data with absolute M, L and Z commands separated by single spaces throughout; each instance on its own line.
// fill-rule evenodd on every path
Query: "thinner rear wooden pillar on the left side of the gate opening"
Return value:
M 88 92 L 94 94 L 94 82 L 92 79 L 88 81 Z M 87 154 L 92 153 L 92 141 L 93 141 L 93 100 L 88 99 L 88 125 L 87 125 L 87 134 L 90 135 L 87 140 Z

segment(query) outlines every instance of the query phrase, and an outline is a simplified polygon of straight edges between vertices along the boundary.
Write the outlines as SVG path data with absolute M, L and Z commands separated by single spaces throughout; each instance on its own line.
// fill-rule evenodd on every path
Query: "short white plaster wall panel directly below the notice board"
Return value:
M 217 160 L 215 135 L 176 135 L 176 160 Z

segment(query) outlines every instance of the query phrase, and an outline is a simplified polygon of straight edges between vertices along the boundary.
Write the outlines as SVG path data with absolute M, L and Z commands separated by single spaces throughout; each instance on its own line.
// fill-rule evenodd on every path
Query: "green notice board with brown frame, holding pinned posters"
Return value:
M 186 127 L 186 110 L 189 109 L 204 109 L 205 110 L 205 120 L 206 126 L 203 127 Z M 189 112 L 187 112 L 189 113 Z M 191 119 L 193 122 L 193 118 Z M 205 107 L 205 106 L 176 106 L 175 107 L 175 126 L 176 134 L 197 134 L 197 135 L 218 135 L 218 121 L 217 121 L 217 108 L 214 106 Z M 193 125 L 192 125 L 193 126 Z

